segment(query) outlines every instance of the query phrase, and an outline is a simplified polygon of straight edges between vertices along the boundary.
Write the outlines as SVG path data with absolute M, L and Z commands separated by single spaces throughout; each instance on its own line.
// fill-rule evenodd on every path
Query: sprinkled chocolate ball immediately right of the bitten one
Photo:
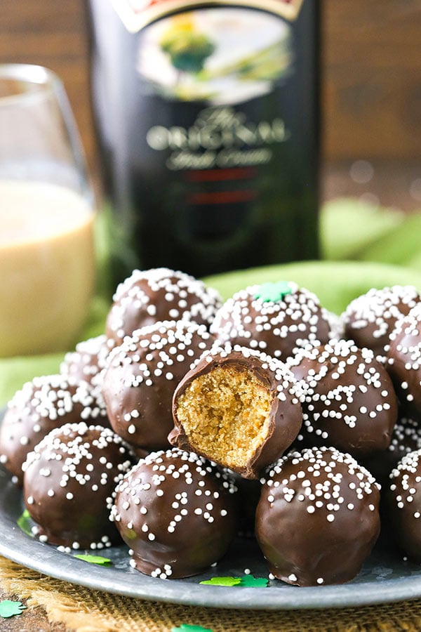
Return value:
M 387 449 L 397 400 L 385 367 L 371 350 L 353 341 L 332 341 L 302 351 L 290 367 L 304 397 L 305 442 L 333 445 L 354 456 Z

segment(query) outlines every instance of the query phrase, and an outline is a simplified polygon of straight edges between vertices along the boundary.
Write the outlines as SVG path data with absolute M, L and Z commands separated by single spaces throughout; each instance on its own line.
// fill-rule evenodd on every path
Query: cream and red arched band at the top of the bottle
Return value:
M 261 11 L 281 15 L 286 20 L 295 20 L 304 0 L 238 0 L 224 2 L 225 6 L 257 8 Z M 201 6 L 221 6 L 218 0 L 112 0 L 123 24 L 131 33 L 136 33 L 155 20 L 166 15 L 187 11 Z

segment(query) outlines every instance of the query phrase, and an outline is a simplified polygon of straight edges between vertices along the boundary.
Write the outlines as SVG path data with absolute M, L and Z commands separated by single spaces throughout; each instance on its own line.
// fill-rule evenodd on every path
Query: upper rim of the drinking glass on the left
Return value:
M 62 90 L 63 83 L 53 70 L 36 64 L 6 63 L 0 64 L 0 84 L 4 80 L 20 81 L 27 86 L 39 86 L 34 91 L 15 92 L 6 96 L 0 95 L 0 106 L 12 105 L 15 102 L 25 102 L 39 98 L 40 95 L 56 93 Z

